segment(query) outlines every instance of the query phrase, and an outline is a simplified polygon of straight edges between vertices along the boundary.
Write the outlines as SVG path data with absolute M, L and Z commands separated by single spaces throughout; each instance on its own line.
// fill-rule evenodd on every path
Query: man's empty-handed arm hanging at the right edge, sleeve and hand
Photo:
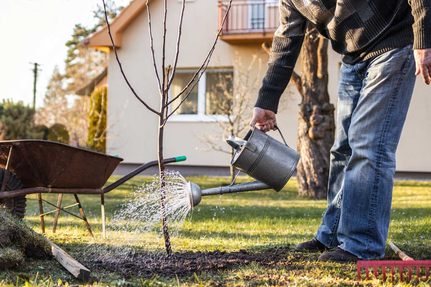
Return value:
M 421 74 L 429 85 L 431 77 L 431 1 L 411 0 L 413 23 L 413 50 L 416 75 Z

